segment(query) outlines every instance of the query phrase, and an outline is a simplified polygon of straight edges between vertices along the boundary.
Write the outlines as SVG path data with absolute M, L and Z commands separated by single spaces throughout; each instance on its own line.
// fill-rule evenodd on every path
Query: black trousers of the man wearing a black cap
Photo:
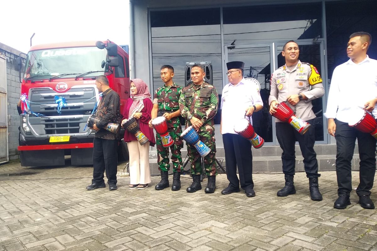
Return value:
M 227 166 L 227 178 L 230 186 L 242 189 L 254 189 L 253 182 L 253 155 L 251 143 L 238 134 L 225 133 L 222 135 L 225 150 L 225 162 Z M 237 177 L 237 167 L 239 180 Z

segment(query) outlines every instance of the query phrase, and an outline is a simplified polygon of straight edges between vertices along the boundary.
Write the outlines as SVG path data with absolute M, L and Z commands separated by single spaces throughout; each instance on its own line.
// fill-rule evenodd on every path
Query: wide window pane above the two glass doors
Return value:
M 321 3 L 223 8 L 223 20 L 225 45 L 323 37 Z

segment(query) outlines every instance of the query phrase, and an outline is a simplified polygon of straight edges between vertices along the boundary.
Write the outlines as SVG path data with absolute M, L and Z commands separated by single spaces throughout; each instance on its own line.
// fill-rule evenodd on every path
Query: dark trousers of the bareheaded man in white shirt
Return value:
M 355 143 L 359 145 L 360 184 L 356 189 L 357 195 L 371 195 L 374 174 L 376 170 L 376 139 L 369 133 L 349 127 L 348 123 L 335 120 L 336 130 L 336 176 L 338 180 L 338 194 L 352 191 L 351 160 Z

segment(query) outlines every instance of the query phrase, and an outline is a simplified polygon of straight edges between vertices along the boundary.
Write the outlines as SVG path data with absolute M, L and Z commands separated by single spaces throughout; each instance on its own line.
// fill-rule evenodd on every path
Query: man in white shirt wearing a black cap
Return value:
M 229 185 L 221 193 L 239 192 L 241 183 L 246 196 L 254 197 L 251 143 L 234 131 L 234 125 L 243 119 L 245 114 L 252 123 L 251 115 L 263 108 L 263 101 L 256 85 L 243 77 L 244 62 L 228 62 L 227 68 L 229 84 L 222 90 L 220 133 L 224 142 Z M 239 179 L 236 173 L 237 167 Z

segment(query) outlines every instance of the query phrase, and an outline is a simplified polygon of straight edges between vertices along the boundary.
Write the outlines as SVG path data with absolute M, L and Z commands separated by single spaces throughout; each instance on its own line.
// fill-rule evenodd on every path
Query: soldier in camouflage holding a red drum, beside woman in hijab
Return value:
M 174 68 L 170 65 L 162 65 L 161 79 L 164 81 L 164 86 L 155 91 L 153 97 L 152 119 L 149 122 L 149 127 L 152 128 L 152 120 L 159 116 L 164 116 L 167 122 L 167 127 L 170 136 L 174 140 L 174 144 L 170 146 L 172 150 L 173 163 L 173 184 L 172 190 L 178 191 L 181 189 L 181 167 L 182 156 L 181 149 L 183 148 L 183 140 L 181 138 L 181 122 L 179 116 L 178 99 L 181 94 L 182 87 L 173 82 Z M 156 148 L 157 148 L 157 162 L 158 169 L 161 172 L 161 181 L 155 186 L 156 190 L 162 190 L 169 187 L 168 171 L 169 164 L 169 148 L 162 146 L 161 136 L 156 132 Z

